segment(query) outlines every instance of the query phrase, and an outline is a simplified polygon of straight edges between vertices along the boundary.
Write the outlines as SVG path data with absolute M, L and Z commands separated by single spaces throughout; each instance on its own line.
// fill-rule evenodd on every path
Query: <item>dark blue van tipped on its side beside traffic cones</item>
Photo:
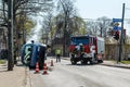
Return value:
M 40 44 L 26 44 L 22 47 L 21 59 L 22 63 L 35 67 L 36 63 L 39 62 L 39 67 L 43 67 L 46 59 L 47 47 Z

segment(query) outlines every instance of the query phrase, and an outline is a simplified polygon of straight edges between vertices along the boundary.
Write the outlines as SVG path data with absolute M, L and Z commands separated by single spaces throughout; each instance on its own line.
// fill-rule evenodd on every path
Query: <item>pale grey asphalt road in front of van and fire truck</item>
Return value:
M 54 60 L 55 61 L 55 60 Z M 50 66 L 48 75 L 30 71 L 31 87 L 130 87 L 130 70 L 103 65 L 72 65 L 62 60 Z

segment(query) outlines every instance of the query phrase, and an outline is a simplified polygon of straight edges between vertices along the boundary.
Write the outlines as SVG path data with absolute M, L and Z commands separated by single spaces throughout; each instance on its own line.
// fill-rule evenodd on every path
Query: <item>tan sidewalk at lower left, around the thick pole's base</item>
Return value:
M 0 87 L 30 87 L 28 69 L 22 64 L 8 71 L 8 64 L 0 64 Z

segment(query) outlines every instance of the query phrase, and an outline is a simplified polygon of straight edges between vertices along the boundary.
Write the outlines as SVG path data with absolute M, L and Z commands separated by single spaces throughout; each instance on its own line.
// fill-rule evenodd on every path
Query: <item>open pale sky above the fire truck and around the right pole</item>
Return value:
M 125 17 L 130 18 L 130 0 L 76 0 L 75 7 L 82 18 L 98 18 L 107 16 L 108 18 L 121 18 L 122 3 L 126 3 Z M 130 24 L 125 22 L 127 34 L 130 35 Z

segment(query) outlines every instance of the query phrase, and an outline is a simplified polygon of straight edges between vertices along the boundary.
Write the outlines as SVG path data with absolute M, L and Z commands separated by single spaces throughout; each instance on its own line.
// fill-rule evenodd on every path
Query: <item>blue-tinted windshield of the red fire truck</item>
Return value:
M 88 45 L 89 38 L 88 37 L 72 37 L 70 45 Z

